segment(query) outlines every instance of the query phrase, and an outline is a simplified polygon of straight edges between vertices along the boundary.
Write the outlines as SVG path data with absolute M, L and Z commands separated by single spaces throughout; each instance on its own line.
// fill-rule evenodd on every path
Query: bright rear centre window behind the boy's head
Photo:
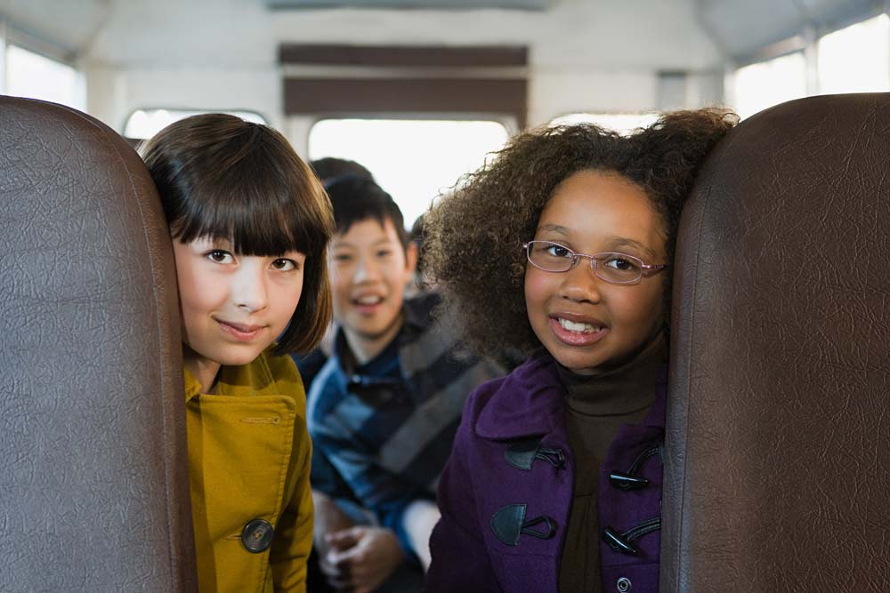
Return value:
M 363 164 L 410 228 L 436 196 L 478 169 L 506 139 L 504 125 L 493 121 L 325 119 L 309 133 L 309 157 Z

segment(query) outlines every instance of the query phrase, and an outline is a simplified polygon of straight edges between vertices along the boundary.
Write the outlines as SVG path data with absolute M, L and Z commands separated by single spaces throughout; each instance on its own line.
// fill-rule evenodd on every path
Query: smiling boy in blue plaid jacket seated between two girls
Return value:
M 337 588 L 420 590 L 465 397 L 502 372 L 457 355 L 431 318 L 436 295 L 404 299 L 417 246 L 392 197 L 357 177 L 328 194 L 338 329 L 309 395 L 315 545 Z

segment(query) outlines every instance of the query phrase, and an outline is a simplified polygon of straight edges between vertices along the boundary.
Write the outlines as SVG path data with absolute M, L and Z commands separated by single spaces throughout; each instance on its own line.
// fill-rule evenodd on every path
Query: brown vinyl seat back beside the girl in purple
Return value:
M 673 316 L 662 593 L 890 590 L 890 95 L 716 148 Z

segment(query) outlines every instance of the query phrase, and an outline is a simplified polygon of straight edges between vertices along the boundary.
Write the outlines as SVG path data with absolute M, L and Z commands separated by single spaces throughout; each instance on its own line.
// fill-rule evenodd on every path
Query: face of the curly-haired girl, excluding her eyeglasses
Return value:
M 615 173 L 583 171 L 554 189 L 538 220 L 538 241 L 578 253 L 621 252 L 648 264 L 667 259 L 665 233 L 648 196 Z M 620 365 L 662 327 L 664 278 L 611 284 L 581 258 L 565 272 L 527 264 L 525 301 L 538 340 L 563 366 L 595 374 Z

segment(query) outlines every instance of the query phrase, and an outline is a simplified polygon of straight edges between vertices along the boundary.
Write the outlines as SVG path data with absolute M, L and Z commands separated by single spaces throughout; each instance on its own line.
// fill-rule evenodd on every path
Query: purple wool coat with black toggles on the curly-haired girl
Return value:
M 606 592 L 658 591 L 660 532 L 653 524 L 660 520 L 666 383 L 662 373 L 650 413 L 642 425 L 619 429 L 600 469 L 600 532 L 611 527 L 636 550 L 616 551 L 601 537 Z M 439 485 L 428 593 L 558 590 L 575 468 L 564 397 L 554 358 L 541 353 L 467 399 Z M 614 471 L 648 484 L 619 488 Z M 635 538 L 627 533 L 634 528 Z

